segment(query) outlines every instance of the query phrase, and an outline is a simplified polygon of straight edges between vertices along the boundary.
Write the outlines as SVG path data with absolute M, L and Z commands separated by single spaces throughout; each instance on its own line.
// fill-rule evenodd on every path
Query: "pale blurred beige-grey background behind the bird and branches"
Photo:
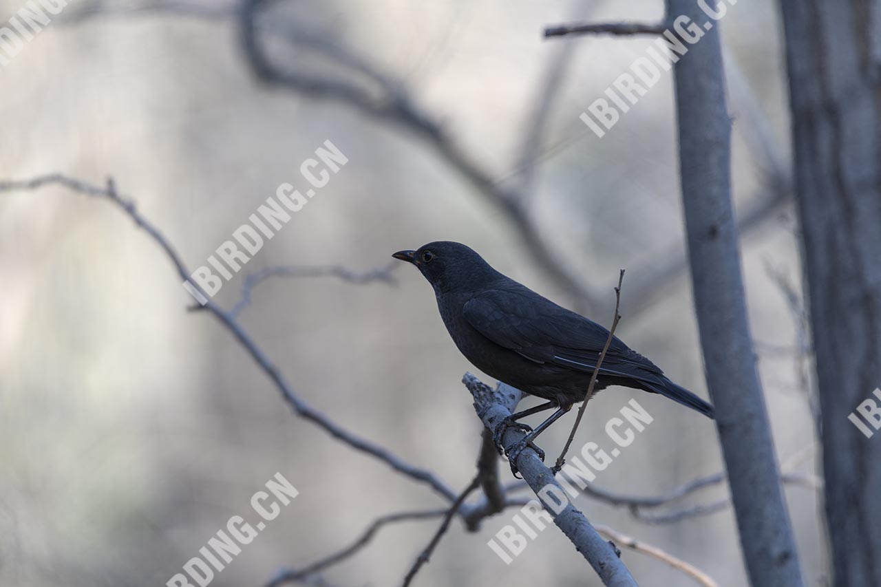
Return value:
M 436 140 L 396 115 L 263 83 L 233 4 L 72 0 L 0 71 L 0 179 L 112 175 L 192 270 L 279 183 L 304 186 L 300 163 L 329 139 L 348 164 L 225 284 L 222 306 L 267 267 L 369 271 L 398 249 L 454 240 L 609 326 L 624 267 L 618 335 L 707 398 L 681 266 L 672 78 L 598 138 L 579 115 L 653 40 L 541 37 L 569 20 L 654 22 L 662 4 L 347 0 L 262 12 L 259 30 L 281 31 L 263 40 L 279 71 L 354 85 L 380 105 L 403 95 L 443 131 Z M 0 0 L 0 21 L 22 5 Z M 789 156 L 780 29 L 774 4 L 740 3 L 722 37 L 760 374 L 783 470 L 811 473 L 795 221 L 777 193 Z M 290 30 L 303 34 L 287 42 Z M 481 189 L 444 148 L 491 185 Z M 522 222 L 499 204 L 505 194 L 518 198 Z M 591 301 L 537 263 L 524 222 Z M 241 324 L 309 405 L 458 489 L 478 454 L 481 423 L 460 383 L 475 369 L 449 340 L 425 279 L 408 266 L 392 271 L 394 284 L 266 281 Z M 292 414 L 217 320 L 188 311 L 167 257 L 115 206 L 59 187 L 4 193 L 0 276 L 0 584 L 165 584 L 229 516 L 248 516 L 251 495 L 276 472 L 300 495 L 213 585 L 264 584 L 346 546 L 377 516 L 443 505 Z M 710 420 L 621 388 L 591 402 L 575 446 L 601 441 L 632 397 L 655 421 L 598 486 L 661 494 L 722 470 Z M 572 419 L 543 435 L 549 455 Z M 507 465 L 501 472 L 510 480 Z M 725 494 L 710 488 L 662 511 Z M 787 498 L 805 579 L 825 584 L 818 492 L 791 485 Z M 586 496 L 577 505 L 721 585 L 745 584 L 730 509 L 647 524 Z M 418 584 L 519 587 L 549 573 L 557 585 L 599 584 L 555 528 L 509 566 L 500 561 L 486 541 L 514 513 L 477 534 L 455 520 Z M 437 524 L 386 528 L 324 577 L 397 584 Z M 655 559 L 624 557 L 642 585 L 692 584 Z

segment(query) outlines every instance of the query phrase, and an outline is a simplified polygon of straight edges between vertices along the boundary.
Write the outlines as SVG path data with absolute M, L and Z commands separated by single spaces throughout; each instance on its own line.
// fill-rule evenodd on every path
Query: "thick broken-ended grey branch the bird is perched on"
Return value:
M 500 393 L 499 390 L 493 390 L 485 383 L 481 383 L 477 377 L 470 373 L 463 376 L 463 383 L 474 397 L 474 407 L 485 427 L 494 432 L 496 427 L 505 426 L 505 419 L 511 415 L 511 410 L 516 405 L 515 402 L 512 403 L 512 398 Z M 522 441 L 524 436 L 525 433 L 519 428 L 505 427 L 502 445 L 510 454 L 515 444 Z M 555 494 L 566 495 L 563 488 L 554 480 L 551 470 L 542 463 L 536 451 L 531 447 L 527 446 L 517 455 L 516 465 L 523 479 L 529 483 L 529 487 L 537 495 L 542 495 L 549 490 Z M 565 507 L 562 507 L 564 505 Z M 548 504 L 545 503 L 545 506 L 548 507 Z M 590 525 L 581 511 L 575 509 L 572 502 L 568 501 L 566 504 L 560 503 L 559 506 L 559 508 L 547 508 L 558 512 L 553 516 L 554 524 L 557 524 L 566 538 L 590 563 L 596 574 L 603 580 L 603 584 L 614 587 L 636 585 L 630 571 L 615 554 L 610 544 L 596 533 L 594 527 Z

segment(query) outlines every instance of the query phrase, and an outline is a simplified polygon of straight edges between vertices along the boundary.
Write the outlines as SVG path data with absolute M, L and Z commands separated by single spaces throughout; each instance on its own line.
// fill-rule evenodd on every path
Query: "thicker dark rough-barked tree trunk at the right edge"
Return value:
M 881 434 L 848 415 L 881 404 L 881 2 L 781 9 L 835 584 L 877 587 Z

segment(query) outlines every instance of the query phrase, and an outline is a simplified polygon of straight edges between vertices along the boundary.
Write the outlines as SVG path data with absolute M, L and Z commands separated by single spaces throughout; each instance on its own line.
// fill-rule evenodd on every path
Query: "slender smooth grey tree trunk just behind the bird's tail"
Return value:
M 744 562 L 754 586 L 801 585 L 747 322 L 719 22 L 694 0 L 667 0 L 667 15 L 686 15 L 704 33 L 676 65 L 679 167 L 700 344 Z

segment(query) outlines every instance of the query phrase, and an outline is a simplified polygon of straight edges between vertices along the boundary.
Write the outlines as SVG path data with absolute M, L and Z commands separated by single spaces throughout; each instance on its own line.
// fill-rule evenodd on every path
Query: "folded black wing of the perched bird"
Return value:
M 538 363 L 593 372 L 609 331 L 562 308 L 525 286 L 496 288 L 478 294 L 463 308 L 465 320 L 497 345 Z M 661 369 L 617 337 L 600 368 L 602 375 L 653 380 Z

